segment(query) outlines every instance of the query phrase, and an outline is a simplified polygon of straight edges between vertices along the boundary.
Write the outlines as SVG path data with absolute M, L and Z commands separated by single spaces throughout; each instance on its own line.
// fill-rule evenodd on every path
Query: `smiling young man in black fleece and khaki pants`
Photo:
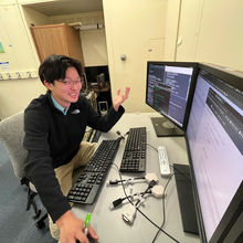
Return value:
M 120 106 L 128 97 L 117 91 L 113 107 L 105 116 L 98 115 L 82 88 L 82 64 L 63 55 L 51 55 L 39 68 L 43 85 L 49 89 L 31 102 L 24 110 L 24 148 L 28 150 L 25 173 L 35 186 L 50 215 L 50 230 L 61 243 L 87 243 L 84 221 L 71 211 L 66 196 L 72 188 L 73 170 L 86 165 L 94 144 L 82 141 L 86 126 L 108 131 L 122 117 Z M 98 239 L 89 226 L 88 233 Z

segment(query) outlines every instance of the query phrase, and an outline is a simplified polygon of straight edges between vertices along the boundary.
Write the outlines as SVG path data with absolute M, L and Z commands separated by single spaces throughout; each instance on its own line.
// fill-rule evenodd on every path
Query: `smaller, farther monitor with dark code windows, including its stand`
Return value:
M 151 118 L 157 137 L 183 136 L 197 63 L 147 62 L 146 104 L 160 114 Z

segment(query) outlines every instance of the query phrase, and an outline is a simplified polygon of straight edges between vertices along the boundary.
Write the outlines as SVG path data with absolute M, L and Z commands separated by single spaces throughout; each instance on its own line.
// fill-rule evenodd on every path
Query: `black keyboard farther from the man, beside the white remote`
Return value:
M 129 129 L 119 168 L 122 172 L 146 171 L 146 127 L 135 127 Z

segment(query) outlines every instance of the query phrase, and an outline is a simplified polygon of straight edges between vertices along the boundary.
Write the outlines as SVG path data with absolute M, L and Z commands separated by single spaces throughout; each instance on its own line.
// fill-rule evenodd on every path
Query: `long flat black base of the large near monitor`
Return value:
M 190 180 L 184 178 L 181 173 L 177 172 L 177 170 L 179 170 L 183 173 L 188 173 L 188 177 L 191 178 L 189 166 L 173 163 L 173 168 L 175 168 L 177 193 L 178 193 L 178 199 L 179 199 L 183 231 L 187 233 L 198 235 L 199 229 L 198 229 L 194 199 L 193 199 L 193 192 L 192 192 L 192 183 Z

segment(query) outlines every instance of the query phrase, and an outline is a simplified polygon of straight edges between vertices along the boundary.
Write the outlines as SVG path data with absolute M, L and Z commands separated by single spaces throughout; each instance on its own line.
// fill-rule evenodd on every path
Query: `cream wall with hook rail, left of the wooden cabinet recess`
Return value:
M 9 70 L 1 66 L 0 73 L 11 73 L 11 80 L 0 81 L 0 118 L 3 119 L 24 109 L 44 89 L 39 78 L 27 78 L 29 71 L 38 76 L 39 64 L 17 4 L 0 7 L 0 33 L 4 47 L 0 62 L 9 62 Z M 21 78 L 17 78 L 17 72 Z

